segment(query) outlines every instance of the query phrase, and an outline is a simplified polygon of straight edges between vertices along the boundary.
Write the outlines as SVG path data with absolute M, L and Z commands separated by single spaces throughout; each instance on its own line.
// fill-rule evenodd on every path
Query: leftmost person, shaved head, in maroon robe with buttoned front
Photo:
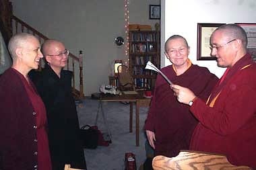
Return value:
M 51 170 L 46 109 L 28 72 L 42 53 L 32 34 L 15 34 L 8 45 L 13 65 L 0 77 L 0 169 Z

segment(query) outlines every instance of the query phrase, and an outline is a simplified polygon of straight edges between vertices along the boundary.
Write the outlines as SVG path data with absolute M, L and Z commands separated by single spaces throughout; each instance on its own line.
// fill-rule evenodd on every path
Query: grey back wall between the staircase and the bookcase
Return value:
M 113 60 L 125 58 L 124 46 L 117 47 L 117 36 L 125 38 L 124 0 L 12 0 L 13 13 L 49 38 L 64 42 L 73 54 L 84 51 L 85 95 L 108 84 Z M 152 25 L 149 5 L 160 0 L 129 0 L 130 24 Z M 78 82 L 77 82 L 78 83 Z

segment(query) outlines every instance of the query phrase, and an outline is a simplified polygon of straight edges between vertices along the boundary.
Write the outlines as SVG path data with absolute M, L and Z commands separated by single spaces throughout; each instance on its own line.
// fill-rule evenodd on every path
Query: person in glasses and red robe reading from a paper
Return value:
M 256 63 L 247 53 L 241 26 L 225 24 L 210 38 L 218 67 L 227 68 L 206 103 L 190 89 L 170 87 L 181 103 L 190 105 L 199 124 L 190 149 L 220 153 L 233 165 L 256 167 Z

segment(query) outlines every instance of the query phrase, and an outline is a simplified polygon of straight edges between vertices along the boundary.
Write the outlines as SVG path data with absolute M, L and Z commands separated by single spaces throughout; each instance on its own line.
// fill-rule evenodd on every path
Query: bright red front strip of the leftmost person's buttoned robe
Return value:
M 49 169 L 51 170 L 51 157 L 48 144 L 48 136 L 46 134 L 46 110 L 44 103 L 40 96 L 32 87 L 32 81 L 30 85 L 28 81 L 23 81 L 30 101 L 33 105 L 34 112 L 36 113 L 36 137 L 37 137 L 37 148 L 38 148 L 38 169 Z

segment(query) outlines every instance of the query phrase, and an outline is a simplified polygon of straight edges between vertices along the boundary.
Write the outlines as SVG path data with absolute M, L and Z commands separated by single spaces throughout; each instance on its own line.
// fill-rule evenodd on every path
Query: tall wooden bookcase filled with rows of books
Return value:
M 136 89 L 154 89 L 156 72 L 145 69 L 149 60 L 160 68 L 160 32 L 130 31 L 129 69 Z

